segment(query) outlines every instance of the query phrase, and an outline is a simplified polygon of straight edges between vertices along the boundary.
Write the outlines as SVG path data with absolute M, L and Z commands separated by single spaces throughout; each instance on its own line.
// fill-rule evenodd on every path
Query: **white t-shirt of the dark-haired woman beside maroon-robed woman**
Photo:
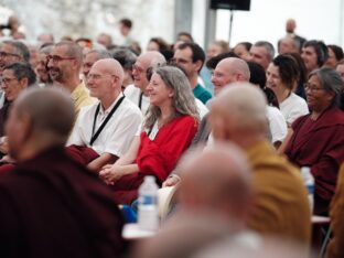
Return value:
M 310 112 L 305 100 L 294 93 L 291 93 L 290 96 L 280 104 L 280 110 L 288 125 L 291 125 L 297 118 Z

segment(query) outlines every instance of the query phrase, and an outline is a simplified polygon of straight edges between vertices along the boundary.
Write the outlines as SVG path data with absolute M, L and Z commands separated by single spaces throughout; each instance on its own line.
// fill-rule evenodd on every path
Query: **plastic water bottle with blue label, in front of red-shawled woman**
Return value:
M 139 187 L 138 224 L 143 230 L 157 230 L 159 227 L 158 185 L 151 175 L 147 175 Z

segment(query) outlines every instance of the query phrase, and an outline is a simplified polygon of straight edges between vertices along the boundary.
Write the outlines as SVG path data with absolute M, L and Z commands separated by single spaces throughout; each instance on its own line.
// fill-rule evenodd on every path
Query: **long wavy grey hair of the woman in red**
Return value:
M 174 92 L 172 104 L 174 114 L 170 120 L 183 115 L 189 115 L 200 120 L 195 97 L 191 92 L 186 75 L 180 68 L 169 65 L 154 68 L 153 73 L 159 74 L 164 84 Z M 150 106 L 144 120 L 144 128 L 151 129 L 160 116 L 160 108 Z

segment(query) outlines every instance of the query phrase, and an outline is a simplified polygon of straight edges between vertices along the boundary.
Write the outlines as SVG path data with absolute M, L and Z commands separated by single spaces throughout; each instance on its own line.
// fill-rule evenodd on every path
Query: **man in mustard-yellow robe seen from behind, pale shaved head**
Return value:
M 300 171 L 266 140 L 266 97 L 248 83 L 223 89 L 212 104 L 215 140 L 232 141 L 247 153 L 252 168 L 256 206 L 249 228 L 304 245 L 310 243 L 311 213 Z

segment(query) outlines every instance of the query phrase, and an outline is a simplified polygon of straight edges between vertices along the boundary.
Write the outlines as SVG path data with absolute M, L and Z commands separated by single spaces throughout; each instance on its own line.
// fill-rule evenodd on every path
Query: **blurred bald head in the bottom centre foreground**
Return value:
M 179 169 L 183 175 L 180 186 L 183 208 L 214 209 L 238 223 L 245 219 L 251 198 L 250 170 L 237 147 L 217 143 L 192 151 Z

